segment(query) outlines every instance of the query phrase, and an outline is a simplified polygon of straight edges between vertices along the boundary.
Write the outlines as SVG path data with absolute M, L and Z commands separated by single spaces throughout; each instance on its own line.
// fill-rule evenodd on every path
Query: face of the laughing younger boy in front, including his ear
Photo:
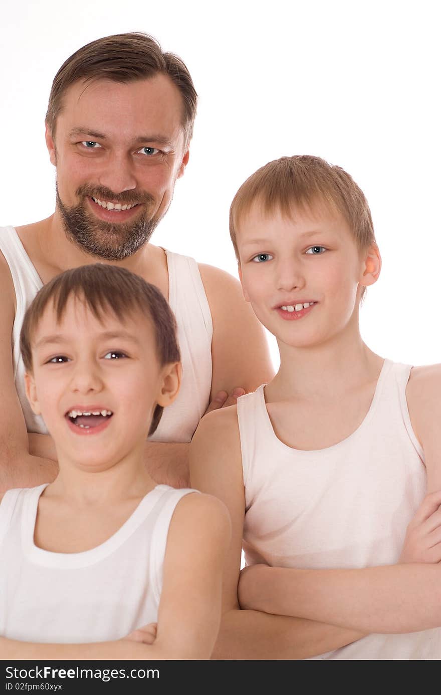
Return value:
M 179 386 L 178 366 L 160 367 L 150 320 L 138 311 L 124 323 L 111 312 L 102 319 L 72 297 L 58 323 L 49 304 L 26 376 L 58 458 L 94 471 L 142 451 L 156 404 L 172 402 Z

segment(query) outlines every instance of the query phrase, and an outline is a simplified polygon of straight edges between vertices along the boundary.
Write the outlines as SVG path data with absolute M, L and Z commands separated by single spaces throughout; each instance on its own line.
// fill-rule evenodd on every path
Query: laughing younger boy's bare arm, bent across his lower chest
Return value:
M 0 638 L 3 659 L 209 659 L 221 617 L 222 569 L 230 520 L 222 502 L 192 493 L 169 527 L 156 639 L 96 644 L 35 644 Z M 203 553 L 201 553 L 203 548 Z M 130 587 L 128 587 L 130 590 Z M 151 628 L 151 626 L 149 626 Z

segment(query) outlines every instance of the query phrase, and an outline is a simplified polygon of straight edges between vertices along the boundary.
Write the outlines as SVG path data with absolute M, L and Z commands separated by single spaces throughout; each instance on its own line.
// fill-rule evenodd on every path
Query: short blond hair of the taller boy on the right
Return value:
M 360 249 L 376 244 L 371 212 L 363 191 L 342 169 L 320 157 L 281 157 L 260 167 L 242 183 L 230 208 L 230 236 L 239 261 L 236 233 L 240 220 L 257 202 L 265 214 L 324 203 L 342 215 Z

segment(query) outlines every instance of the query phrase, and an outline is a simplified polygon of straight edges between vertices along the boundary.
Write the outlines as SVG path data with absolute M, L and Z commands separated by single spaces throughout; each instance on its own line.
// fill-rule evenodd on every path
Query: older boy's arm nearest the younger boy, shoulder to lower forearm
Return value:
M 244 484 L 236 408 L 207 415 L 190 445 L 192 486 L 221 499 L 232 538 L 223 586 L 223 615 L 213 659 L 306 659 L 363 635 L 309 620 L 240 610 L 238 580 L 244 523 Z

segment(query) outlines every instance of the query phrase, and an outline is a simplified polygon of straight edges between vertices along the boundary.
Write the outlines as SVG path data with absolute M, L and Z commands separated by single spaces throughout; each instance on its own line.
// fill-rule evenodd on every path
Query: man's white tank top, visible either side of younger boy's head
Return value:
M 9 265 L 17 298 L 12 333 L 15 388 L 28 432 L 47 434 L 44 420 L 33 414 L 26 398 L 24 364 L 19 346 L 24 313 L 43 284 L 14 227 L 0 228 L 0 252 Z M 178 397 L 164 409 L 158 429 L 150 440 L 188 442 L 210 400 L 213 322 L 196 261 L 170 251 L 165 253 L 169 272 L 169 305 L 178 325 L 183 378 Z

